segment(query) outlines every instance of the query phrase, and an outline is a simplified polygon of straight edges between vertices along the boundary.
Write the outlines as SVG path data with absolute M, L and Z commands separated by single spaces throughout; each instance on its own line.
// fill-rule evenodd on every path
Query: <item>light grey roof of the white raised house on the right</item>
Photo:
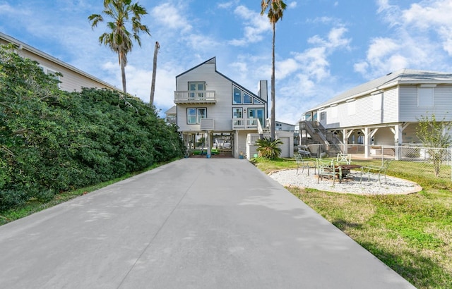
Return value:
M 371 92 L 378 92 L 388 87 L 396 85 L 420 85 L 420 84 L 452 84 L 452 73 L 442 73 L 427 70 L 400 69 L 393 73 L 388 73 L 381 78 L 376 78 L 357 87 L 353 87 L 337 96 L 323 102 L 310 109 L 314 111 L 324 106 L 329 106 L 338 102 L 344 102 L 347 99 L 361 97 Z

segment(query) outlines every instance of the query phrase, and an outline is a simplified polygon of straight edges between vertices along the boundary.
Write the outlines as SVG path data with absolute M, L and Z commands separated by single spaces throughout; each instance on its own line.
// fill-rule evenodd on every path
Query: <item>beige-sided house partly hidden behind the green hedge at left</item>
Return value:
M 85 73 L 82 70 L 69 65 L 68 63 L 64 63 L 49 54 L 35 49 L 34 47 L 30 47 L 30 45 L 20 42 L 18 39 L 0 32 L 0 44 L 9 43 L 14 44 L 16 47 L 15 52 L 20 56 L 37 61 L 42 70 L 44 70 L 44 73 L 61 73 L 62 76 L 55 75 L 55 77 L 61 82 L 59 84 L 61 90 L 66 90 L 68 92 L 79 92 L 82 87 L 118 90 L 117 87 L 95 78 L 93 75 L 89 75 L 88 73 Z

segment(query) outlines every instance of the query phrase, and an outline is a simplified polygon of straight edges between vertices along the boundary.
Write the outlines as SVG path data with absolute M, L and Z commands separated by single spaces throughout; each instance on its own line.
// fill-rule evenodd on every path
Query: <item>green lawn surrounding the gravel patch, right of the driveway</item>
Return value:
M 262 171 L 296 168 L 295 161 L 255 159 Z M 354 164 L 381 164 L 353 161 Z M 448 168 L 450 170 L 450 168 Z M 411 195 L 352 195 L 287 187 L 417 288 L 452 288 L 452 182 L 392 161 L 388 175 L 420 184 Z

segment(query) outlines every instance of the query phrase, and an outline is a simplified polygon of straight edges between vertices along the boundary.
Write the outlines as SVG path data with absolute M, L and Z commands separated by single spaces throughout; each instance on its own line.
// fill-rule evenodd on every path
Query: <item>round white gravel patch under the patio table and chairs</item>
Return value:
M 378 175 L 371 174 L 369 180 L 367 176 L 363 176 L 362 183 L 359 183 L 359 172 L 352 171 L 351 175 L 355 178 L 343 180 L 342 183 L 336 180 L 333 186 L 333 180 L 331 179 L 323 178 L 318 183 L 318 176 L 314 175 L 313 170 L 309 171 L 309 176 L 307 175 L 307 169 L 304 171 L 299 170 L 298 174 L 296 169 L 274 171 L 269 174 L 270 178 L 285 187 L 312 188 L 327 192 L 357 195 L 406 195 L 422 190 L 422 187 L 417 185 L 417 183 L 401 178 L 386 176 L 387 181 L 385 181 L 384 176 L 381 176 L 381 185 L 379 185 Z

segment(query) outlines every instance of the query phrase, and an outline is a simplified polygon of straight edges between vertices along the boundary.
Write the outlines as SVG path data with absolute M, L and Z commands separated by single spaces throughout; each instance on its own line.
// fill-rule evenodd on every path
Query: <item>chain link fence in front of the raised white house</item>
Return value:
M 369 145 L 364 144 L 308 144 L 299 146 L 313 158 L 332 158 L 338 153 L 352 154 L 352 159 L 393 159 L 410 163 L 410 169 L 422 175 L 452 180 L 452 148 L 423 147 L 422 144 Z M 366 155 L 367 153 L 367 155 Z M 393 166 L 393 169 L 397 169 Z M 406 167 L 406 166 L 405 166 Z

